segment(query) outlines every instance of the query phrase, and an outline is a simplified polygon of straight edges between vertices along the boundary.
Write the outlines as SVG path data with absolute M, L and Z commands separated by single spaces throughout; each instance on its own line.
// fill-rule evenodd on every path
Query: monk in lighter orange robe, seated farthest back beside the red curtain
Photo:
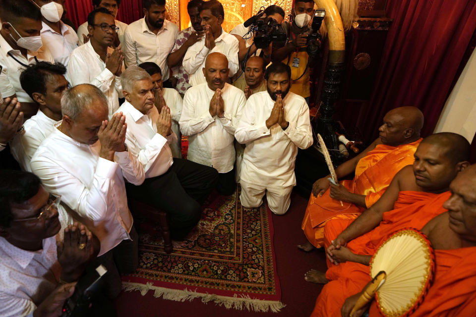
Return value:
M 413 164 L 413 155 L 421 142 L 423 114 L 416 107 L 390 110 L 378 129 L 380 134 L 368 148 L 336 169 L 338 178 L 355 173 L 352 180 L 339 185 L 329 183 L 330 175 L 318 179 L 302 220 L 307 238 L 298 248 L 310 251 L 324 244 L 324 225 L 332 218 L 355 219 L 370 208 L 385 192 L 397 172 Z

